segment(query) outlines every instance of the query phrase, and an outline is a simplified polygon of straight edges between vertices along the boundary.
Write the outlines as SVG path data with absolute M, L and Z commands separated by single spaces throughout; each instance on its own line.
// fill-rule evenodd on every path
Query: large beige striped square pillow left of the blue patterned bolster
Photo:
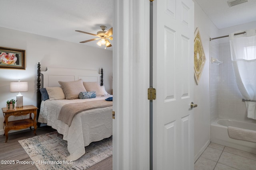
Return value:
M 66 95 L 66 99 L 77 99 L 80 92 L 86 92 L 82 79 L 71 82 L 58 82 L 60 86 L 62 86 L 63 88 L 63 91 Z

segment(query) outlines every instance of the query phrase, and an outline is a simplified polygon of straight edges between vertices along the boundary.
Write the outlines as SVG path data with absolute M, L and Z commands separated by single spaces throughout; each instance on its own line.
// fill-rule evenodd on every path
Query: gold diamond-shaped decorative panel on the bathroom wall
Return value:
M 198 27 L 196 28 L 194 37 L 194 78 L 196 85 L 198 85 L 206 61 Z

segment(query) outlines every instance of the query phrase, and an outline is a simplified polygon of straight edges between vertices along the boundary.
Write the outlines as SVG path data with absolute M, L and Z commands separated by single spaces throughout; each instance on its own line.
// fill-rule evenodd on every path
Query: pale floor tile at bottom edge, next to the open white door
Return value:
M 194 170 L 214 170 L 217 162 L 200 156 L 194 165 Z

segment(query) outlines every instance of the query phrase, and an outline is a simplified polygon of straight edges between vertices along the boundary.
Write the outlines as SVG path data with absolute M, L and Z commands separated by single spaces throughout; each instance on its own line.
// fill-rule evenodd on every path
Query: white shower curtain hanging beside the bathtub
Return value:
M 256 100 L 256 29 L 231 33 L 230 50 L 236 83 L 245 100 Z M 256 119 L 256 102 L 245 101 L 247 117 Z

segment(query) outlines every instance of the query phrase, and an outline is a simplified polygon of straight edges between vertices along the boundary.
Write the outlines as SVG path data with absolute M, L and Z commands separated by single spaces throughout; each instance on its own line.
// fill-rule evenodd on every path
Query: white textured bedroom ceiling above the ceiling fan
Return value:
M 108 30 L 113 23 L 113 0 L 0 0 L 0 8 L 0 27 L 74 43 L 97 38 L 75 30 L 96 34 L 100 25 Z

